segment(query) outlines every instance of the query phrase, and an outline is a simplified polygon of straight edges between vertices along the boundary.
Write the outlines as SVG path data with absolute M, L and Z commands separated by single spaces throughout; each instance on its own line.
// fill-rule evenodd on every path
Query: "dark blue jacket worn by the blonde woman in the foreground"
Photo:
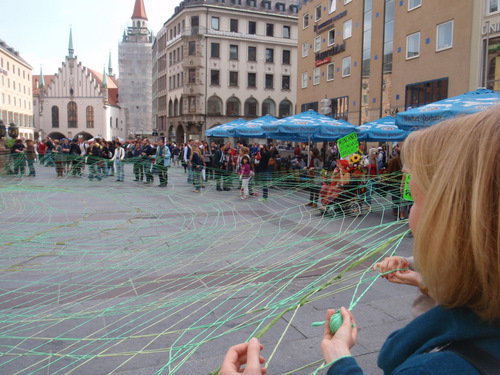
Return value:
M 477 370 L 451 351 L 429 353 L 452 341 L 468 341 L 500 358 L 500 325 L 488 325 L 469 309 L 436 306 L 393 332 L 385 341 L 378 366 L 391 375 L 477 375 Z M 335 362 L 328 375 L 362 374 L 353 357 Z

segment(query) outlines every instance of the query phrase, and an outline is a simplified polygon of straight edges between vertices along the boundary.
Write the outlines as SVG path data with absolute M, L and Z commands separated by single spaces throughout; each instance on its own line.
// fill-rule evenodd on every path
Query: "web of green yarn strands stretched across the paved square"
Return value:
M 339 308 L 344 292 L 355 305 L 408 230 L 384 222 L 392 201 L 378 179 L 372 213 L 361 192 L 321 215 L 304 207 L 311 181 L 298 171 L 275 172 L 265 202 L 265 180 L 246 201 L 237 176 L 231 193 L 209 180 L 195 195 L 182 168 L 166 189 L 53 177 L 0 177 L 0 373 L 201 373 L 201 351 L 221 359 L 253 336 L 273 348 L 272 369 L 296 320 L 314 319 L 308 306 Z

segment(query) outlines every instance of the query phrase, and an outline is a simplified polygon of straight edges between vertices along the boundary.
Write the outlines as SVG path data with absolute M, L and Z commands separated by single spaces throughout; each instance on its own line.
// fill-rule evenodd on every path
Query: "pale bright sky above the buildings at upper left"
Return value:
M 156 35 L 181 0 L 143 0 L 149 29 Z M 0 39 L 19 52 L 33 74 L 55 74 L 73 48 L 84 66 L 118 75 L 118 44 L 132 25 L 135 0 L 1 0 Z

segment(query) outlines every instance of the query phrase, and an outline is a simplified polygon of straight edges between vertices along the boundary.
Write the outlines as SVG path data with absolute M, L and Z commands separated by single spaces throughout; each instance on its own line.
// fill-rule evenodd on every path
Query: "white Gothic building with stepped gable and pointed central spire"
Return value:
M 40 137 L 83 136 L 124 138 L 124 116 L 118 105 L 118 85 L 111 76 L 82 65 L 74 55 L 70 33 L 68 55 L 55 75 L 34 75 L 34 124 Z

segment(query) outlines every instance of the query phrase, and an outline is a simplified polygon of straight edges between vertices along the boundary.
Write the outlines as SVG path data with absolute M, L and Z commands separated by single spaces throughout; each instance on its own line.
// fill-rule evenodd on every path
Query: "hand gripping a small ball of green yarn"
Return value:
M 358 327 L 354 322 L 354 317 L 345 307 L 340 308 L 340 313 L 344 322 L 337 332 L 333 334 L 330 330 L 330 318 L 335 314 L 335 310 L 330 309 L 326 312 L 325 333 L 321 342 L 321 352 L 326 363 L 331 363 L 340 357 L 351 355 L 350 349 L 356 344 Z

